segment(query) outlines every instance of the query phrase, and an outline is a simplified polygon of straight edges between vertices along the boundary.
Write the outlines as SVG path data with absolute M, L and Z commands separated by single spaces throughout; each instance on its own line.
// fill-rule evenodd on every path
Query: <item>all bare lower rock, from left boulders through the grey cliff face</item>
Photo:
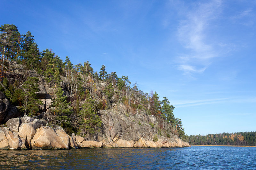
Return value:
M 103 111 L 105 116 L 102 114 L 101 117 L 104 129 L 98 134 L 97 141 L 85 140 L 75 134 L 71 137 L 60 126 L 45 126 L 44 119 L 12 118 L 6 122 L 7 127 L 0 127 L 0 149 L 189 147 L 187 142 L 176 136 L 166 138 L 156 135 L 156 127 L 151 126 L 156 125 L 155 117 L 143 113 L 135 117 L 124 114 L 125 111 L 122 104 L 110 112 Z M 153 140 L 155 136 L 158 137 L 157 141 Z

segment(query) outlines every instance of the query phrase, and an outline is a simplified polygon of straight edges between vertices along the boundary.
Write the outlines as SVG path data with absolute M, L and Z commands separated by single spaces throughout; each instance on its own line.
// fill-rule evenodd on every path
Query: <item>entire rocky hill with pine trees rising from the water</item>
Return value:
M 8 50 L 1 51 L 0 149 L 189 147 L 166 97 L 131 87 L 104 65 L 97 73 L 89 61 L 74 66 L 40 53 L 15 25 L 1 31 Z

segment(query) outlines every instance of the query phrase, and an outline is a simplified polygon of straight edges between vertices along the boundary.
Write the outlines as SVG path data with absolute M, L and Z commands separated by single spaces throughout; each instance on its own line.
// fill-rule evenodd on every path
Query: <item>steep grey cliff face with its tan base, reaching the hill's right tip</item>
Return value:
M 112 110 L 100 110 L 103 123 L 96 141 L 108 147 L 189 147 L 177 136 L 171 138 L 157 135 L 157 121 L 153 115 L 144 112 L 132 115 L 122 103 Z M 152 127 L 153 126 L 153 127 Z M 154 141 L 157 136 L 158 140 Z M 90 138 L 88 138 L 90 140 Z

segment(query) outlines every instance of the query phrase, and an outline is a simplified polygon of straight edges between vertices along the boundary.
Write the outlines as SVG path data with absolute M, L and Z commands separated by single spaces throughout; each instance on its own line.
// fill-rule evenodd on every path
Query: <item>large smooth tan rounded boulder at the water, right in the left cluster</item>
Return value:
M 55 132 L 52 127 L 42 126 L 37 129 L 31 140 L 32 149 L 68 149 L 69 140 L 65 141 L 62 132 Z M 69 137 L 68 137 L 69 139 Z

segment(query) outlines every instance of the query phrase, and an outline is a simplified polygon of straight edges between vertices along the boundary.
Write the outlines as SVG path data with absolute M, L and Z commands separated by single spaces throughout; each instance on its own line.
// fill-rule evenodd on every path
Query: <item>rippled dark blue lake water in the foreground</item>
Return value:
M 0 150 L 0 169 L 256 169 L 256 147 Z

